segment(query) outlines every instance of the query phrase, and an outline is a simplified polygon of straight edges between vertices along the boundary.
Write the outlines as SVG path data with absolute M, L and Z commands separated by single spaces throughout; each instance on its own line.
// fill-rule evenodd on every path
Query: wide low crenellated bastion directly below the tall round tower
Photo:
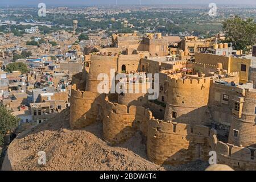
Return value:
M 179 165 L 209 159 L 215 130 L 207 126 L 164 122 L 152 118 L 148 125 L 147 154 L 156 164 Z

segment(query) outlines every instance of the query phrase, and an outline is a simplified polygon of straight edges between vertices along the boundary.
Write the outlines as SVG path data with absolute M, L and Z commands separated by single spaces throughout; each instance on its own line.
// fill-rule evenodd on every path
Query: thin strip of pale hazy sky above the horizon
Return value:
M 118 4 L 247 4 L 255 5 L 255 0 L 117 0 Z M 116 0 L 0 0 L 0 5 L 38 5 L 43 2 L 48 5 L 115 5 Z

